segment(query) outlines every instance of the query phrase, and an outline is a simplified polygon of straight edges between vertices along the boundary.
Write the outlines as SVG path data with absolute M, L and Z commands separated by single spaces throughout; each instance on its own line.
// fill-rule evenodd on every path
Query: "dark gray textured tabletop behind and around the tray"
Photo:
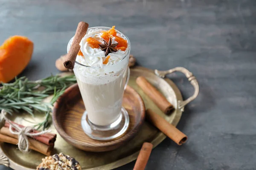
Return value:
M 55 59 L 81 20 L 116 25 L 139 65 L 182 66 L 198 79 L 199 96 L 177 126 L 189 141 L 164 140 L 146 170 L 255 169 L 256 0 L 0 0 L 0 42 L 14 34 L 35 42 L 22 75 L 41 79 L 58 73 Z M 183 74 L 170 78 L 184 98 L 192 94 Z

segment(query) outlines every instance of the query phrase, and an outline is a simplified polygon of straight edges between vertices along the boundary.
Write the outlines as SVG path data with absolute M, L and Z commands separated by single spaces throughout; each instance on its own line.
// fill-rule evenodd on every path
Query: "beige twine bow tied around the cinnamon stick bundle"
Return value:
M 5 110 L 1 111 L 1 114 L 3 115 L 4 119 L 10 124 L 9 130 L 12 134 L 15 134 L 18 136 L 18 148 L 21 152 L 27 153 L 29 151 L 29 137 L 42 135 L 44 133 L 49 133 L 51 130 L 44 130 L 39 133 L 30 133 L 32 130 L 34 130 L 31 126 L 26 127 L 19 127 L 18 125 L 13 124 L 7 117 L 7 112 Z M 15 131 L 13 131 L 13 128 Z

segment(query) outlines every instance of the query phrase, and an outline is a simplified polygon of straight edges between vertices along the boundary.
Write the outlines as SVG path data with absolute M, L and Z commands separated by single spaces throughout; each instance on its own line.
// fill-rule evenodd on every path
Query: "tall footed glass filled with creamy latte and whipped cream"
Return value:
M 93 38 L 104 44 L 102 33 L 109 29 L 111 28 L 88 28 L 80 42 L 81 48 L 73 69 L 86 109 L 81 119 L 81 127 L 90 138 L 96 140 L 110 140 L 121 136 L 129 125 L 129 116 L 122 107 L 122 98 L 130 76 L 130 41 L 120 31 L 115 30 L 116 36 L 126 40 L 127 48 L 112 51 L 106 56 L 104 49 L 93 48 L 87 40 Z M 72 42 L 73 38 L 67 45 L 67 52 Z M 113 43 L 117 43 L 115 37 L 112 37 Z

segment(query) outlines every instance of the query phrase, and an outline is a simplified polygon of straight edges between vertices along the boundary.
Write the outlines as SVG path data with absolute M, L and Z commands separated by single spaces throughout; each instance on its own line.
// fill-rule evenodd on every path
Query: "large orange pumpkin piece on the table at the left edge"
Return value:
M 12 36 L 0 46 L 0 82 L 14 79 L 28 65 L 34 44 L 27 37 Z

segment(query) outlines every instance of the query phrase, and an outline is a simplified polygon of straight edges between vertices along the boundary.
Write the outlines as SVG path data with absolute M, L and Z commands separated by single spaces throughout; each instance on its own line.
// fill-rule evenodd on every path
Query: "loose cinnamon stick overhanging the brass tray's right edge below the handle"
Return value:
M 188 139 L 184 133 L 182 133 L 175 126 L 167 122 L 151 109 L 146 111 L 146 119 L 178 145 L 185 143 Z

